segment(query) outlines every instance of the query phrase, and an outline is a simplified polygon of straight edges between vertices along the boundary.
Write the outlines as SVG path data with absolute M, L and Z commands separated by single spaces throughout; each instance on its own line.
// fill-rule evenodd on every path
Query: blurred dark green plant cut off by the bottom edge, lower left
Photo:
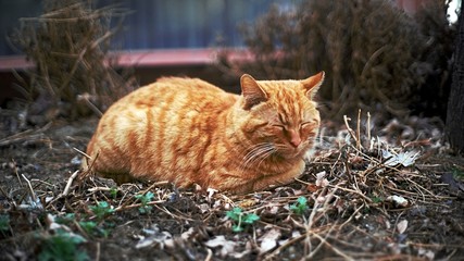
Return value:
M 77 249 L 77 246 L 85 241 L 86 239 L 80 235 L 65 231 L 57 231 L 57 234 L 46 238 L 42 241 L 38 260 L 89 260 L 89 256 L 86 252 L 78 251 Z

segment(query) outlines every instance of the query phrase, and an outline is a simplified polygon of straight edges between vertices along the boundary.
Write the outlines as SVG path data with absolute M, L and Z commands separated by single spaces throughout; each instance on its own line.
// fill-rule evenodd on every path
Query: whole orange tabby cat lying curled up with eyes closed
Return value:
M 161 78 L 114 103 L 87 153 L 102 175 L 199 184 L 248 192 L 290 183 L 304 170 L 324 72 L 303 80 L 255 80 L 241 96 L 197 78 Z M 98 156 L 98 157 L 97 157 Z

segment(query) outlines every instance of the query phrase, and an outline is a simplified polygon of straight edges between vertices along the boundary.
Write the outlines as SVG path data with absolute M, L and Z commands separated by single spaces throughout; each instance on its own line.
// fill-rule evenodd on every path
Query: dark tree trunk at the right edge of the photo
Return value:
M 453 78 L 448 101 L 446 139 L 457 153 L 464 153 L 464 12 L 461 11 L 454 47 Z

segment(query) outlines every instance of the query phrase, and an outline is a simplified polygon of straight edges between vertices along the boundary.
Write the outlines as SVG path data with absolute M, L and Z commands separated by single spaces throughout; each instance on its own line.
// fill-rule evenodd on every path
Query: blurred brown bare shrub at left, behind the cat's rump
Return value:
M 42 15 L 21 18 L 13 41 L 35 65 L 24 88 L 34 101 L 29 116 L 77 117 L 88 114 L 89 107 L 102 111 L 134 85 L 130 74 L 115 72 L 116 58 L 109 55 L 110 40 L 121 29 L 125 11 L 93 10 L 92 4 L 46 0 Z M 118 25 L 111 28 L 114 18 Z

